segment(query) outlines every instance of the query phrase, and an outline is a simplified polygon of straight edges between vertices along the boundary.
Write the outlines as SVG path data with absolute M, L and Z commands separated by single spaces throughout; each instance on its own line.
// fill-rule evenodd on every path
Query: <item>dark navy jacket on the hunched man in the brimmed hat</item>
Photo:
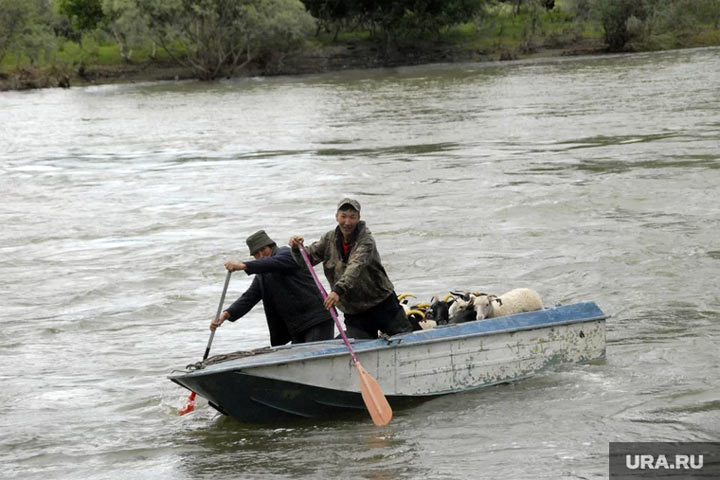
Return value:
M 332 321 L 310 272 L 295 262 L 289 247 L 273 246 L 272 256 L 245 265 L 245 273 L 255 278 L 227 309 L 230 321 L 242 317 L 262 300 L 273 346 L 284 345 L 298 333 Z

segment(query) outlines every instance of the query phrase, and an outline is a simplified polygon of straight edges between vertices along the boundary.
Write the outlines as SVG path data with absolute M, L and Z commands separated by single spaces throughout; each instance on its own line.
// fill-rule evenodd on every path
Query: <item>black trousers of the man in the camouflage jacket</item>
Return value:
M 345 327 L 348 337 L 358 339 L 377 338 L 378 330 L 388 335 L 412 332 L 412 324 L 405 316 L 405 311 L 394 292 L 364 312 L 346 313 Z

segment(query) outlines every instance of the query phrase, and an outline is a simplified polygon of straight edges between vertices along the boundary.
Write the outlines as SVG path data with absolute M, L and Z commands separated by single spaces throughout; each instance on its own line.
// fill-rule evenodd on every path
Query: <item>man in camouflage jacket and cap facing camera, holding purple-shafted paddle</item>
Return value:
M 310 262 L 322 262 L 332 288 L 325 308 L 337 306 L 345 314 L 348 336 L 354 338 L 377 338 L 378 330 L 388 335 L 412 331 L 380 261 L 375 239 L 360 220 L 360 202 L 340 200 L 335 219 L 337 227 L 307 247 Z M 298 250 L 301 245 L 302 237 L 290 238 L 298 264 L 304 263 Z

